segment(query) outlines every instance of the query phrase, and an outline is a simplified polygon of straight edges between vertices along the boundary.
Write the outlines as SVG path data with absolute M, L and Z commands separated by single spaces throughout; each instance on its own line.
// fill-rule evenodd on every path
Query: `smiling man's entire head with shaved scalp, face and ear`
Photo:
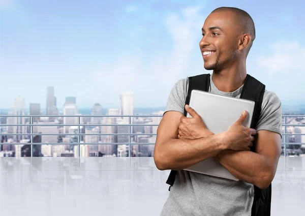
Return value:
M 199 42 L 204 68 L 217 73 L 240 62 L 246 64 L 254 40 L 254 22 L 246 11 L 215 9 L 204 21 Z

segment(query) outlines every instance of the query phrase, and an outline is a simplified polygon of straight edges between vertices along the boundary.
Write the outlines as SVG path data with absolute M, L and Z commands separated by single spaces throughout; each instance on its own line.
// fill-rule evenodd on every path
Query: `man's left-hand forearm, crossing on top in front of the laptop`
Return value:
M 200 139 L 170 139 L 160 143 L 155 152 L 155 162 L 161 170 L 181 170 L 207 158 L 216 156 L 226 149 L 223 134 Z

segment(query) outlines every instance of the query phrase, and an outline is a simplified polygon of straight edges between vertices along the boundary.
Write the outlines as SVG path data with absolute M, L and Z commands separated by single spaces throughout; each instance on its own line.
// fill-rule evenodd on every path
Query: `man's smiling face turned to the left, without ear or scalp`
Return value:
M 215 12 L 205 19 L 199 46 L 206 70 L 217 72 L 237 59 L 239 29 L 235 20 L 229 11 Z

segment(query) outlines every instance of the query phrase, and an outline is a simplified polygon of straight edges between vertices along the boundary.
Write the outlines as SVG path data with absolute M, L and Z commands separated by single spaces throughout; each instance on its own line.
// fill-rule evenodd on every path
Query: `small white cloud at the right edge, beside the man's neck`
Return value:
M 259 56 L 257 64 L 270 73 L 291 73 L 305 68 L 305 47 L 298 42 L 276 42 L 271 56 Z

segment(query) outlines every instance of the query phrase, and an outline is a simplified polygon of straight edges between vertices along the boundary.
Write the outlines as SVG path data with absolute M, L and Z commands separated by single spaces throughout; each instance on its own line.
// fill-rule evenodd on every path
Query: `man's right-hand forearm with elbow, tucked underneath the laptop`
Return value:
M 267 157 L 252 151 L 224 150 L 216 158 L 235 177 L 259 188 L 267 187 L 275 174 Z

